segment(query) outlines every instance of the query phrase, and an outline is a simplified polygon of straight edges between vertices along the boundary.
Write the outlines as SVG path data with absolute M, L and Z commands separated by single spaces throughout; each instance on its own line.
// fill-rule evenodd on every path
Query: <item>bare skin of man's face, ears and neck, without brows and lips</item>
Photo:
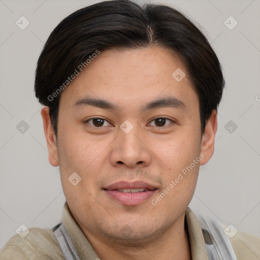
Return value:
M 186 74 L 180 82 L 172 77 L 177 68 Z M 85 96 L 109 101 L 118 109 L 74 106 Z M 185 107 L 140 112 L 141 105 L 167 96 Z M 158 46 L 103 51 L 61 93 L 57 140 L 49 108 L 41 114 L 50 164 L 59 166 L 70 210 L 100 259 L 191 259 L 185 210 L 199 167 L 214 152 L 217 112 L 212 112 L 202 135 L 198 95 L 177 54 Z M 105 119 L 103 126 L 86 122 L 97 117 Z M 157 126 L 156 117 L 174 122 Z M 120 129 L 125 120 L 134 127 L 128 134 Z M 151 200 L 201 153 L 200 163 L 152 205 Z M 68 181 L 73 172 L 82 178 L 76 186 Z M 158 189 L 144 203 L 123 205 L 102 189 L 121 180 L 143 180 Z M 128 236 L 120 232 L 125 225 L 132 231 Z

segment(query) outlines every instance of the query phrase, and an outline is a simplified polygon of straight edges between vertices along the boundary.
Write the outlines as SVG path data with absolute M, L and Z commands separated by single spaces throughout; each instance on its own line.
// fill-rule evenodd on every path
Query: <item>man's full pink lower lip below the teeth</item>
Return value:
M 114 200 L 124 204 L 124 205 L 138 205 L 153 196 L 157 189 L 147 190 L 141 192 L 120 192 L 117 190 L 106 190 L 107 194 L 112 197 Z

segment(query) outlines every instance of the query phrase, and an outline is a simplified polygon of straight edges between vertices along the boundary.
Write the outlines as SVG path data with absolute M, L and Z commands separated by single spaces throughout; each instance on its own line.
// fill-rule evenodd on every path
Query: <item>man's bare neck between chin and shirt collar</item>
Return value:
M 149 240 L 136 240 L 135 243 L 122 243 L 111 240 L 96 233 L 85 232 L 95 252 L 101 260 L 191 260 L 188 235 L 184 225 L 184 215 L 170 226 L 164 233 Z

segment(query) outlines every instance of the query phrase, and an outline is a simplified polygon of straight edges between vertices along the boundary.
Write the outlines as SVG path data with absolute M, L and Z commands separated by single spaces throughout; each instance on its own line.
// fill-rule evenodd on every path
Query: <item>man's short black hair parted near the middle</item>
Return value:
M 50 108 L 55 135 L 59 92 L 70 83 L 68 77 L 80 64 L 86 64 L 87 58 L 97 50 L 153 45 L 181 57 L 199 96 L 204 133 L 206 122 L 221 101 L 224 87 L 221 65 L 204 34 L 184 14 L 171 7 L 159 4 L 141 7 L 131 1 L 114 0 L 82 8 L 64 18 L 42 50 L 36 69 L 35 93 L 39 102 Z

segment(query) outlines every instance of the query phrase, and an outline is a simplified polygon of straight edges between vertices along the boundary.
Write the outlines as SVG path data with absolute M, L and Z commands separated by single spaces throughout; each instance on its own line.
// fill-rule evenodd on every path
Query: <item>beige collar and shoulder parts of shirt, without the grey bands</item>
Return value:
M 62 220 L 80 259 L 98 260 L 99 256 L 74 220 L 67 202 L 63 207 Z M 208 260 L 199 221 L 189 208 L 185 213 L 185 222 L 187 224 L 192 260 Z M 239 232 L 234 238 L 230 239 L 230 242 L 238 260 L 260 259 L 260 238 Z M 0 260 L 11 259 L 64 260 L 65 258 L 51 229 L 30 228 L 28 235 L 24 238 L 16 234 L 0 249 Z

